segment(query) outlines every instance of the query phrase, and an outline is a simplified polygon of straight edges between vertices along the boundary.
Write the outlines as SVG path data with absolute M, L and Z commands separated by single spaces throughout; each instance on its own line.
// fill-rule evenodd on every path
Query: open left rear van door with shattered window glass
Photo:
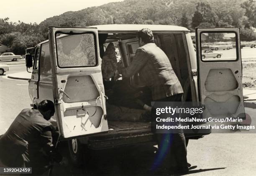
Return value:
M 56 120 L 64 138 L 108 131 L 97 28 L 49 28 Z

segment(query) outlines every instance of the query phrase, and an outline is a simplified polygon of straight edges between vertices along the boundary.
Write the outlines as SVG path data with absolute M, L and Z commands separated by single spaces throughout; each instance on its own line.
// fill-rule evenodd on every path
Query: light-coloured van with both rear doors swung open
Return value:
M 49 40 L 35 46 L 33 59 L 26 54 L 26 65 L 33 67 L 29 96 L 34 107 L 44 99 L 54 102 L 53 124 L 58 127 L 61 140 L 68 141 L 73 163 L 80 162 L 85 146 L 103 149 L 155 141 L 151 122 L 108 120 L 102 79 L 102 44 L 107 47 L 114 43 L 120 51 L 123 66 L 127 67 L 139 47 L 136 32 L 142 28 L 151 29 L 154 42 L 168 56 L 182 84 L 183 101 L 204 105 L 207 109 L 203 114 L 205 117 L 237 117 L 244 113 L 239 28 L 197 28 L 195 52 L 189 30 L 179 26 L 113 24 L 86 28 L 49 27 Z M 202 58 L 202 33 L 233 33 L 238 47 L 233 50 L 232 58 Z M 113 80 L 112 84 L 116 81 Z M 145 89 L 139 75 L 131 77 L 128 84 L 138 91 Z M 208 107 L 212 102 L 237 104 L 230 105 L 231 111 L 223 112 L 221 107 L 212 111 Z M 185 135 L 187 139 L 199 139 L 209 133 Z

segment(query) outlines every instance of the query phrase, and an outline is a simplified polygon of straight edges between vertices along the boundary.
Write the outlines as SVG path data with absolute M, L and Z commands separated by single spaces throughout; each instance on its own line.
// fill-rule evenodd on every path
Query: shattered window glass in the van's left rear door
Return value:
M 56 48 L 60 68 L 97 65 L 94 33 L 59 36 L 56 38 Z

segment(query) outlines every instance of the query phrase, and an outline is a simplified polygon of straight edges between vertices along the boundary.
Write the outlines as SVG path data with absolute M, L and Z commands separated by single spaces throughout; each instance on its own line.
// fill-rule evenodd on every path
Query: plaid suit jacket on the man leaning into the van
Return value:
M 168 57 L 155 43 L 138 48 L 131 65 L 122 69 L 123 77 L 131 77 L 136 73 L 151 89 L 153 100 L 183 93 Z

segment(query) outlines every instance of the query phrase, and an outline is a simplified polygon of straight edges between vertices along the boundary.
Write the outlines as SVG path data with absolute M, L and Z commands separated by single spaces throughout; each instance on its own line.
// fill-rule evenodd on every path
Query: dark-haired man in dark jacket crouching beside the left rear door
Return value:
M 36 109 L 24 109 L 0 138 L 0 160 L 8 167 L 32 167 L 32 173 L 47 171 L 53 147 L 54 103 L 43 100 Z

